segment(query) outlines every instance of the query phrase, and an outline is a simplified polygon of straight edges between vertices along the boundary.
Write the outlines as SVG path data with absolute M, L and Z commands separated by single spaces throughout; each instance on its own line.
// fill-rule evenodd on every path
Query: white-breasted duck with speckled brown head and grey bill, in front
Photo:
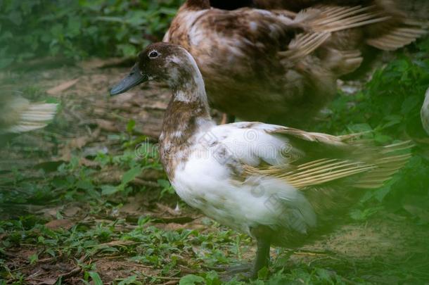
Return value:
M 196 60 L 175 44 L 143 49 L 110 95 L 150 80 L 172 90 L 159 138 L 169 181 L 188 205 L 256 240 L 250 277 L 269 266 L 271 246 L 299 246 L 331 230 L 366 189 L 382 186 L 410 157 L 407 141 L 376 146 L 363 134 L 217 125 Z

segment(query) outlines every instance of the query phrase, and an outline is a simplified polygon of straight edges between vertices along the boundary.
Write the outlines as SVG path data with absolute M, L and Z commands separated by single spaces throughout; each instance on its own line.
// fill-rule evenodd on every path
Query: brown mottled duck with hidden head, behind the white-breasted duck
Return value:
M 227 10 L 211 6 L 228 8 L 226 1 L 215 2 L 187 0 L 163 42 L 196 58 L 211 106 L 230 122 L 306 126 L 335 97 L 337 79 L 361 66 L 364 46 L 393 50 L 426 32 L 406 18 L 393 25 L 392 9 L 374 5 L 334 3 L 296 13 L 251 7 L 259 2 Z

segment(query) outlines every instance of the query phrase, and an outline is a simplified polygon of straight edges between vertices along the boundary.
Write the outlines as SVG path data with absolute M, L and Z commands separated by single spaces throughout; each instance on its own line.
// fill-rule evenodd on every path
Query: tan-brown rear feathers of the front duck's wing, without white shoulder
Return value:
M 290 128 L 271 133 L 288 137 L 292 149 L 300 149 L 305 156 L 288 165 L 245 167 L 246 172 L 276 177 L 305 191 L 333 182 L 353 188 L 377 188 L 409 160 L 410 154 L 403 152 L 412 146 L 408 141 L 375 146 L 372 141 L 359 139 L 361 134 L 335 137 Z M 353 179 L 347 179 L 350 177 Z

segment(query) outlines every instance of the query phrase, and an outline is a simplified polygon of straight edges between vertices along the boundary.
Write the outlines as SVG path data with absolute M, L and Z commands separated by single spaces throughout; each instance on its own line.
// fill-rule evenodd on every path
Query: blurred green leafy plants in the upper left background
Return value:
M 162 39 L 180 2 L 0 1 L 0 68 L 40 56 L 135 56 Z

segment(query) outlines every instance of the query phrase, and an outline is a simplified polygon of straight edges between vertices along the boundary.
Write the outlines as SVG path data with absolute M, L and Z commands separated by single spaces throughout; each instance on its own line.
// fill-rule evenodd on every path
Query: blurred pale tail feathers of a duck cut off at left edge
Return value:
M 0 134 L 20 134 L 46 127 L 56 114 L 57 103 L 32 103 L 17 92 L 0 94 Z

